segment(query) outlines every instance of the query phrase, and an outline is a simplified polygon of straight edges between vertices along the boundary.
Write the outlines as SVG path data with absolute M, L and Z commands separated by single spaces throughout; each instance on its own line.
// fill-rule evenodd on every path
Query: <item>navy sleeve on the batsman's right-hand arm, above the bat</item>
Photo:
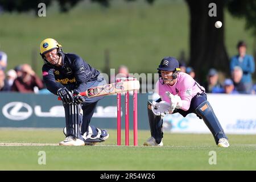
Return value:
M 88 82 L 92 73 L 89 64 L 85 63 L 81 57 L 77 57 L 73 62 L 73 70 L 77 82 L 76 90 L 78 92 L 85 92 L 87 89 L 86 82 Z

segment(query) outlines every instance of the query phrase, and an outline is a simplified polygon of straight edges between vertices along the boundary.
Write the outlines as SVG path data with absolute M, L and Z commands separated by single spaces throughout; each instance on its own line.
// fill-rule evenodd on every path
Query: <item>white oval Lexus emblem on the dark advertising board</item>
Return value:
M 32 108 L 24 102 L 10 102 L 3 106 L 3 115 L 11 120 L 24 120 L 31 116 Z

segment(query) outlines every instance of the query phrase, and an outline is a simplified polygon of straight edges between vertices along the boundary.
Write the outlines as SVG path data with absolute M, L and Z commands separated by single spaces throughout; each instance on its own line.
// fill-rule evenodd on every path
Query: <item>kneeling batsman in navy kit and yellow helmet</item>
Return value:
M 40 43 L 43 58 L 43 80 L 47 89 L 59 96 L 65 110 L 65 139 L 61 146 L 94 145 L 104 142 L 109 134 L 106 130 L 89 126 L 97 102 L 104 96 L 88 98 L 81 96 L 86 89 L 105 85 L 104 77 L 82 58 L 73 53 L 64 53 L 55 39 L 44 39 Z

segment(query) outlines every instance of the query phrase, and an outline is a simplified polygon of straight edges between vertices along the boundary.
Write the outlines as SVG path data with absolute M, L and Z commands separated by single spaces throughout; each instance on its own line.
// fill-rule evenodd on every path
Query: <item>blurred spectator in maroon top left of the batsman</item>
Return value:
M 11 90 L 21 93 L 37 92 L 43 89 L 42 80 L 36 76 L 30 65 L 23 64 L 21 67 L 22 75 L 18 76 L 13 83 Z

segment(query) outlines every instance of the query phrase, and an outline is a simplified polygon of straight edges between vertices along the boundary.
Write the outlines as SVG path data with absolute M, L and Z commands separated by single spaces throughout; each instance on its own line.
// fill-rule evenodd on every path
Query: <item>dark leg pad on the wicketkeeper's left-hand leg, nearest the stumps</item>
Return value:
M 163 119 L 160 115 L 155 115 L 151 110 L 151 102 L 147 101 L 147 115 L 150 124 L 151 137 L 155 138 L 156 143 L 160 143 L 163 138 Z

